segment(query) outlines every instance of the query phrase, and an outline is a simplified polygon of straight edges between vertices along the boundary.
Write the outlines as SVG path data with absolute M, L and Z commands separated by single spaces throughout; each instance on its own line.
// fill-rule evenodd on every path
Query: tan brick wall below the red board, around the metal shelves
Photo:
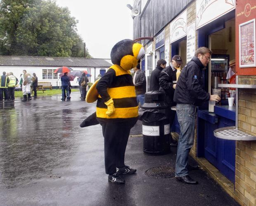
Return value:
M 256 76 L 239 76 L 239 84 L 256 84 Z M 256 135 L 256 89 L 239 89 L 238 128 Z M 237 141 L 235 199 L 256 205 L 256 141 Z

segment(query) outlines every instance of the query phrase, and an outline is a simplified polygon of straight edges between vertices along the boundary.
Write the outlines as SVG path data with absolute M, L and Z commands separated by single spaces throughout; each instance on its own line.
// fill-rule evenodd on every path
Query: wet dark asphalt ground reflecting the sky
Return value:
M 79 95 L 0 102 L 1 206 L 239 205 L 201 169 L 190 172 L 198 185 L 146 175 L 154 167 L 174 169 L 176 147 L 166 155 L 145 154 L 141 121 L 126 149 L 126 165 L 137 173 L 123 176 L 125 185 L 108 182 L 101 126 L 79 126 L 96 104 Z

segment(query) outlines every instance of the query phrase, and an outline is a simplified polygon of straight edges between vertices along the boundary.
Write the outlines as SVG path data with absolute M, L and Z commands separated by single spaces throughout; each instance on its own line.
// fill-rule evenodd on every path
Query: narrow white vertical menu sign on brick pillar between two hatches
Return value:
M 194 56 L 196 50 L 196 22 L 187 26 L 187 62 Z

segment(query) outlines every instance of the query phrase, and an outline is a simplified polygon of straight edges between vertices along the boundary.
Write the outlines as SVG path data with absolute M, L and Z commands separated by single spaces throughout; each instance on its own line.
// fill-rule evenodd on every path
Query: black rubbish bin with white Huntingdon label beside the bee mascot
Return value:
M 165 94 L 159 91 L 145 93 L 145 109 L 141 116 L 143 152 L 149 155 L 162 155 L 170 152 L 170 121 L 166 117 Z

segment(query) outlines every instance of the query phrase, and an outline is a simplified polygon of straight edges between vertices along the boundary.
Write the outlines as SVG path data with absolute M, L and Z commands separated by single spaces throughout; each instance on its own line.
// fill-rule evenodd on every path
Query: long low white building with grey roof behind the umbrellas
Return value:
M 27 73 L 36 73 L 39 82 L 50 82 L 53 87 L 60 85 L 59 74 L 54 71 L 61 66 L 68 66 L 73 70 L 88 71 L 93 83 L 96 77 L 107 71 L 112 65 L 110 59 L 85 59 L 76 57 L 30 57 L 30 56 L 0 56 L 0 76 L 2 72 L 12 71 L 18 79 L 25 69 Z M 77 78 L 71 81 L 72 86 L 78 86 Z

